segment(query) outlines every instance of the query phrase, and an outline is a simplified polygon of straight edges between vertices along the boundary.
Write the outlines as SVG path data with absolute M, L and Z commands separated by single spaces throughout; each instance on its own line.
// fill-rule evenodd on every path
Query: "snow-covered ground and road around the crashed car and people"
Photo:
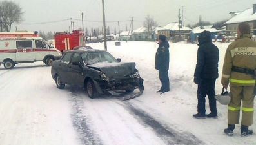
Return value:
M 224 53 L 230 43 L 214 43 L 220 50 L 221 93 Z M 87 44 L 104 50 L 104 43 Z M 0 145 L 16 144 L 256 144 L 255 134 L 241 137 L 240 124 L 233 137 L 224 135 L 227 106 L 217 103 L 217 119 L 195 119 L 197 85 L 193 83 L 196 44 L 170 43 L 170 92 L 161 87 L 155 70 L 155 42 L 108 41 L 108 52 L 122 61 L 134 61 L 145 90 L 141 97 L 122 101 L 104 95 L 90 99 L 74 86 L 59 90 L 50 67 L 41 62 L 0 66 Z M 206 97 L 207 98 L 207 97 Z M 210 113 L 206 100 L 206 113 Z M 256 120 L 250 128 L 256 128 Z

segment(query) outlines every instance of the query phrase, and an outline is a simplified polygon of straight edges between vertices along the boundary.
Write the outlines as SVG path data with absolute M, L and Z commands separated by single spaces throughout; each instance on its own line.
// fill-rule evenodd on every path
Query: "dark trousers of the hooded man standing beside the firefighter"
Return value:
M 215 81 L 216 79 L 202 79 L 197 88 L 197 112 L 205 114 L 205 97 L 208 95 L 211 113 L 217 115 L 215 97 Z

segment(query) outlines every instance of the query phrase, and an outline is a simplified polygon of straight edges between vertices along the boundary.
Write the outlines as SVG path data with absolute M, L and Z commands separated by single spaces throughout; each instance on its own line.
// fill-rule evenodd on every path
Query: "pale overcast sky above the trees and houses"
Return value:
M 13 0 L 19 3 L 25 12 L 21 24 L 13 24 L 12 31 L 42 30 L 44 32 L 69 31 L 70 18 L 74 21 L 74 28 L 100 28 L 103 26 L 102 0 Z M 104 0 L 106 27 L 110 32 L 115 28 L 129 29 L 133 17 L 134 30 L 143 26 L 143 21 L 150 15 L 159 26 L 177 22 L 179 9 L 181 19 L 186 24 L 195 24 L 202 16 L 202 21 L 222 21 L 230 19 L 230 12 L 243 11 L 252 8 L 255 0 Z M 72 23 L 73 24 L 73 23 Z M 131 27 L 132 28 L 132 27 Z

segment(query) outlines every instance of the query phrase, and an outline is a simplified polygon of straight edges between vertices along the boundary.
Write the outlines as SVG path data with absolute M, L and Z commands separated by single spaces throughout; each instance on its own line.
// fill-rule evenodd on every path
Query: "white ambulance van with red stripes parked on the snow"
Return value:
M 37 31 L 0 32 L 0 64 L 6 69 L 18 63 L 43 61 L 46 66 L 60 59 L 62 53 L 50 46 Z

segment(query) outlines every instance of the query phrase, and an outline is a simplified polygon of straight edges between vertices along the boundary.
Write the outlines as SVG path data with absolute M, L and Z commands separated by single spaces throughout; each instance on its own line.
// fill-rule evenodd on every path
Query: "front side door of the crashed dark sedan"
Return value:
M 81 66 L 73 65 L 73 62 L 79 62 Z M 71 63 L 70 63 L 70 84 L 74 84 L 76 86 L 83 86 L 84 84 L 84 76 L 83 72 L 83 63 L 81 59 L 80 53 L 74 52 L 72 55 Z

